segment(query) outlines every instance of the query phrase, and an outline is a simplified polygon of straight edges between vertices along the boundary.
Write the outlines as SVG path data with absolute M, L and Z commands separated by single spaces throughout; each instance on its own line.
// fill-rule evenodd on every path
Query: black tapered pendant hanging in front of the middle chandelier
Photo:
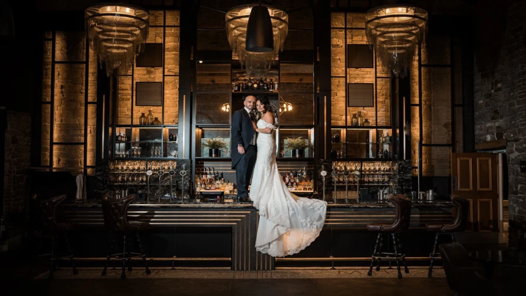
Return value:
M 247 24 L 247 39 L 245 48 L 248 52 L 271 52 L 274 51 L 274 31 L 272 21 L 268 14 L 268 8 L 261 6 L 252 7 Z

